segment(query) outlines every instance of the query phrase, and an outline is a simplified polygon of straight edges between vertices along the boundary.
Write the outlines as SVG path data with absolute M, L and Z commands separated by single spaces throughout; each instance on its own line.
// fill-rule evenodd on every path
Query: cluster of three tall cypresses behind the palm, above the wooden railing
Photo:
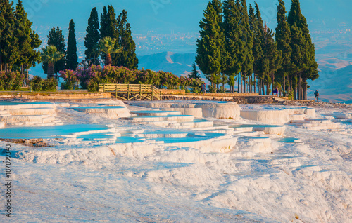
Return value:
M 106 57 L 105 53 L 102 56 L 103 59 L 108 59 L 108 64 L 112 66 L 137 69 L 136 44 L 132 39 L 131 25 L 127 20 L 127 11 L 122 10 L 117 18 L 113 6 L 104 6 L 99 25 L 98 12 L 96 8 L 92 9 L 88 20 L 87 36 L 84 41 L 84 46 L 87 48 L 85 50 L 86 60 L 90 60 L 96 65 L 99 63 L 97 60 L 99 50 L 96 50 L 96 46 L 101 49 L 101 45 L 104 42 L 109 42 L 106 37 L 111 38 L 114 47 L 110 47 L 111 52 L 113 52 L 111 57 Z M 99 41 L 101 42 L 99 43 Z M 119 48 L 123 50 L 118 50 Z

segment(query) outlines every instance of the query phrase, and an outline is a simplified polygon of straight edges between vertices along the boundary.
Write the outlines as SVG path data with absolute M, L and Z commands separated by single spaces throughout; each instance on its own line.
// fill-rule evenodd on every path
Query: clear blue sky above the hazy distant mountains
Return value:
M 253 4 L 254 1 L 247 1 Z M 285 1 L 287 11 L 291 1 Z M 263 19 L 269 27 L 276 26 L 277 0 L 258 0 Z M 132 32 L 139 34 L 154 30 L 158 33 L 198 32 L 199 20 L 207 0 L 118 0 L 118 1 L 83 1 L 83 0 L 31 0 L 24 1 L 25 8 L 38 29 L 59 26 L 68 27 L 72 18 L 76 30 L 84 32 L 92 8 L 101 8 L 113 4 L 116 13 L 125 9 L 129 13 Z M 351 28 L 351 0 L 304 0 L 301 1 L 303 15 L 306 16 L 310 29 L 334 29 L 343 22 Z

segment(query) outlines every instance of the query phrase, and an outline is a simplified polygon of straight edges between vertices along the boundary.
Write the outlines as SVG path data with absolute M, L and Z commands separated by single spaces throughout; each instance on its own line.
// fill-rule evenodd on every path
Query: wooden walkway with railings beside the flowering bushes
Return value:
M 121 100 L 162 100 L 161 90 L 151 84 L 99 84 L 99 91 L 112 93 Z

